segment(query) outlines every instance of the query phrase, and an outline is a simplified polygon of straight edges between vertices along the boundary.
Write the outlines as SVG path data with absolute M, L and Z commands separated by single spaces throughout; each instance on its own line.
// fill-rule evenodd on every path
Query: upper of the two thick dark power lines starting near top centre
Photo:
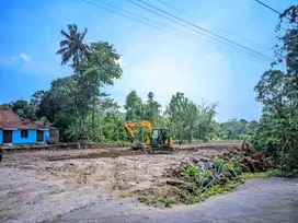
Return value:
M 134 2 L 134 1 L 131 1 L 131 0 L 127 0 L 127 1 Z M 200 30 L 200 31 L 203 31 L 203 32 L 205 32 L 205 33 L 208 33 L 208 34 L 210 34 L 210 35 L 213 35 L 213 36 L 216 36 L 216 37 L 218 37 L 218 38 L 220 38 L 220 39 L 224 39 L 224 40 L 226 40 L 226 42 L 228 42 L 228 43 L 230 43 L 230 44 L 233 44 L 233 45 L 236 45 L 236 46 L 238 46 L 238 47 L 240 47 L 240 48 L 243 48 L 243 49 L 245 49 L 245 50 L 252 51 L 252 52 L 254 52 L 255 55 L 259 55 L 259 56 L 261 56 L 261 57 L 264 57 L 264 58 L 266 58 L 266 59 L 273 61 L 272 58 L 270 58 L 270 57 L 267 57 L 267 56 L 265 56 L 265 55 L 263 55 L 263 54 L 261 54 L 261 52 L 259 52 L 259 51 L 256 51 L 256 50 L 254 50 L 254 49 L 251 49 L 251 48 L 245 47 L 245 46 L 243 46 L 243 45 L 241 45 L 241 44 L 238 44 L 238 43 L 236 43 L 236 42 L 233 42 L 233 40 L 230 40 L 230 39 L 228 39 L 228 38 L 226 38 L 226 37 L 222 37 L 222 36 L 218 35 L 218 34 L 215 34 L 215 33 L 213 33 L 213 32 L 210 32 L 210 31 L 207 31 L 206 28 L 203 28 L 203 27 L 200 27 L 200 26 L 198 26 L 198 25 L 196 25 L 196 24 L 193 24 L 193 23 L 191 23 L 191 22 L 188 22 L 188 21 L 185 21 L 185 20 L 183 20 L 183 19 L 181 19 L 181 17 L 179 17 L 179 16 L 176 16 L 176 15 L 173 15 L 173 14 L 171 14 L 171 13 L 164 11 L 164 10 L 161 10 L 161 9 L 159 9 L 159 8 L 157 8 L 157 7 L 152 5 L 152 4 L 149 4 L 149 3 L 147 3 L 147 2 L 145 2 L 145 1 L 142 1 L 142 0 L 136 0 L 136 1 L 141 2 L 142 4 L 146 4 L 146 5 L 152 8 L 152 9 L 154 9 L 154 10 L 157 10 L 157 11 L 160 11 L 160 12 L 167 14 L 167 15 L 170 15 L 171 17 L 174 17 L 174 19 L 176 19 L 176 20 L 179 20 L 179 21 L 181 21 L 181 22 L 183 22 L 183 23 L 186 23 L 186 24 L 188 24 L 188 25 L 191 25 L 191 26 L 193 26 L 193 27 L 195 27 L 195 28 L 197 28 L 197 30 Z M 134 2 L 134 3 L 136 3 L 136 2 Z M 211 37 L 209 36 L 209 38 L 211 38 Z

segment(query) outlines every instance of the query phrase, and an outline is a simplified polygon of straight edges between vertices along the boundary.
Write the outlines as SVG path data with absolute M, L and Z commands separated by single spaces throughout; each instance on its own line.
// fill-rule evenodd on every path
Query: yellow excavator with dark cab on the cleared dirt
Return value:
M 162 128 L 152 128 L 151 122 L 147 120 L 138 122 L 124 122 L 124 128 L 131 139 L 131 149 L 147 149 L 148 152 L 154 153 L 156 151 L 173 151 L 174 140 L 168 136 L 169 130 Z M 148 131 L 146 143 L 140 143 L 135 137 L 133 128 L 144 127 Z

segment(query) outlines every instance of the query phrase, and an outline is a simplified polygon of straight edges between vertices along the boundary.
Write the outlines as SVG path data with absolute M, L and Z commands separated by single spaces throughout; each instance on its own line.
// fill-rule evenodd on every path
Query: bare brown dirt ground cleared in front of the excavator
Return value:
M 0 163 L 0 222 L 42 222 L 115 199 L 121 190 L 153 187 L 164 168 L 210 157 L 241 142 L 184 145 L 172 154 L 127 148 L 4 154 Z

